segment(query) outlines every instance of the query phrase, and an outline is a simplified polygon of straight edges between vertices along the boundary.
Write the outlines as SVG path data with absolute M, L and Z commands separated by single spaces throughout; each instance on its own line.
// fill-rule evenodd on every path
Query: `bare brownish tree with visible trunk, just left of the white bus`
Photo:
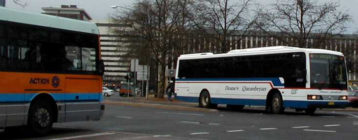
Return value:
M 137 0 L 133 11 L 119 10 L 112 15 L 114 23 L 127 23 L 133 27 L 132 34 L 141 37 L 132 48 L 133 57 L 147 56 L 148 61 L 157 62 L 159 89 L 163 95 L 165 89 L 166 66 L 172 63 L 170 52 L 178 47 L 180 35 L 187 30 L 186 7 L 192 0 Z M 148 14 L 144 14 L 148 13 Z M 147 55 L 145 55 L 145 53 Z M 157 70 L 155 70 L 157 71 Z

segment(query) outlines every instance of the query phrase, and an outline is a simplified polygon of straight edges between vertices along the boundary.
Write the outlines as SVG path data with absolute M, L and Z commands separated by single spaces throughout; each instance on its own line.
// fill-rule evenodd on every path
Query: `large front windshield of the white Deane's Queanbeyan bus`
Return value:
M 310 54 L 311 87 L 347 90 L 344 58 L 329 54 Z

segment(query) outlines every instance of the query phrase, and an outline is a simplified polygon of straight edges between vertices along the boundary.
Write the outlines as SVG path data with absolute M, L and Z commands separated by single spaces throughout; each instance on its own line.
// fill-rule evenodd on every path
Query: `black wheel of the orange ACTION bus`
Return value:
M 36 100 L 31 104 L 27 126 L 33 134 L 38 136 L 46 135 L 51 131 L 53 115 L 51 106 L 45 100 Z

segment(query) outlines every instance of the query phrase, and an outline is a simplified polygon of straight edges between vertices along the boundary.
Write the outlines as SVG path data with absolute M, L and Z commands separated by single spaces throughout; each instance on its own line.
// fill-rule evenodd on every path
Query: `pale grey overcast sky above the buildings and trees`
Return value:
M 41 7 L 60 7 L 61 4 L 75 4 L 79 8 L 84 8 L 87 13 L 90 14 L 95 21 L 105 21 L 108 19 L 108 15 L 113 13 L 114 10 L 111 5 L 130 6 L 134 0 L 21 0 L 27 2 L 28 6 L 22 8 L 16 5 L 12 0 L 6 0 L 6 7 L 24 10 L 28 12 L 41 13 L 43 10 Z M 235 1 L 235 0 L 231 0 Z M 262 5 L 268 5 L 276 0 L 256 0 Z M 318 0 L 320 2 L 331 0 Z M 332 0 L 338 1 L 338 0 Z M 353 22 L 348 24 L 350 27 L 347 31 L 348 34 L 358 30 L 358 0 L 340 0 L 341 8 L 348 10 L 353 18 Z

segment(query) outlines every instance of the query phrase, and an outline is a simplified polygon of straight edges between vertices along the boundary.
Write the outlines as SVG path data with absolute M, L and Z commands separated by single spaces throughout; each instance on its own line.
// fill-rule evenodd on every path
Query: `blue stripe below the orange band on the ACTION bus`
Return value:
M 0 94 L 0 102 L 30 102 L 35 98 L 37 94 L 26 93 L 26 94 Z M 83 100 L 97 100 L 102 101 L 101 93 L 54 93 L 50 94 L 54 100 L 58 101 L 83 101 Z M 78 99 L 76 99 L 78 96 Z

